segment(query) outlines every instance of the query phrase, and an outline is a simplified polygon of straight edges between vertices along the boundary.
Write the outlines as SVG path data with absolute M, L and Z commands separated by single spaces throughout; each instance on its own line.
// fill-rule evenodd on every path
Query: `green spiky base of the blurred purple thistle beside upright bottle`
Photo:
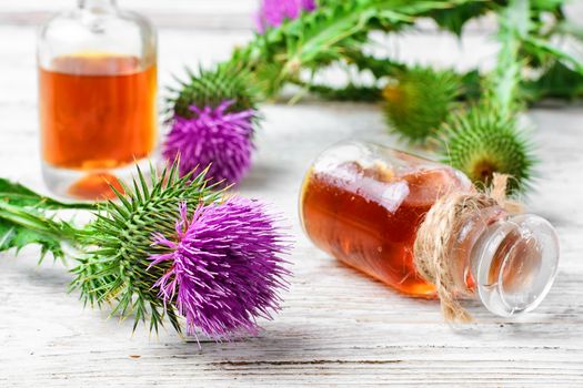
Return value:
M 224 101 L 233 101 L 230 112 L 245 110 L 257 111 L 258 89 L 254 86 L 253 75 L 233 64 L 218 65 L 212 70 L 187 69 L 188 80 L 181 81 L 179 88 L 171 88 L 168 98 L 168 119 L 174 115 L 191 119 L 192 105 L 198 108 L 209 106 L 215 109 Z

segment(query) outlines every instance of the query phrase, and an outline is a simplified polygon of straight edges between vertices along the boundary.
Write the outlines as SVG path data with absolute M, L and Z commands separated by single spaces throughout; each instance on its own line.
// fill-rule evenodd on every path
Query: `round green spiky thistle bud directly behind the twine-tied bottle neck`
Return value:
M 442 161 L 489 186 L 494 173 L 507 174 L 509 194 L 529 188 L 536 159 L 515 116 L 500 116 L 487 105 L 476 105 L 444 125 Z

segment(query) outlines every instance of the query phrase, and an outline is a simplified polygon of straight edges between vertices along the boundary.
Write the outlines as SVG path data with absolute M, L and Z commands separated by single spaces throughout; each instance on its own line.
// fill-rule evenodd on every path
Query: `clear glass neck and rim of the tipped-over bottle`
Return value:
M 546 219 L 493 206 L 462 223 L 450 257 L 461 295 L 478 295 L 492 313 L 512 316 L 533 310 L 546 296 L 556 275 L 559 241 Z

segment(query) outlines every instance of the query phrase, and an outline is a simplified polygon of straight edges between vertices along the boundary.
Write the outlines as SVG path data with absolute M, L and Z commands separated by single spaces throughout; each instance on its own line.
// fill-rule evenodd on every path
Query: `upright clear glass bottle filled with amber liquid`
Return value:
M 57 194 L 111 197 L 158 145 L 157 35 L 115 0 L 79 0 L 38 38 L 42 173 Z M 148 171 L 148 169 L 145 169 Z

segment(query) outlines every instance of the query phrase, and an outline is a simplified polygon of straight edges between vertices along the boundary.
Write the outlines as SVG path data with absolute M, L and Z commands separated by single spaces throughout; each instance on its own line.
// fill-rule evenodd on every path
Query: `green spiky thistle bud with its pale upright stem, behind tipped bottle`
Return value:
M 484 186 L 492 182 L 494 173 L 510 175 L 507 191 L 513 194 L 530 186 L 536 162 L 519 121 L 519 53 L 532 30 L 530 2 L 510 1 L 499 22 L 501 49 L 496 68 L 485 80 L 485 96 L 443 125 L 442 155 L 443 162 Z

